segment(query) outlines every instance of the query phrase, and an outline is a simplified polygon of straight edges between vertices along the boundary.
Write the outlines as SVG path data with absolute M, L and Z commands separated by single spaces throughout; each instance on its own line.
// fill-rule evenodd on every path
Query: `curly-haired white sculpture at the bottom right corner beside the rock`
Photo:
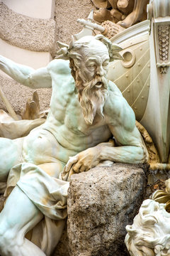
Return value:
M 125 244 L 130 255 L 169 256 L 170 254 L 170 194 L 169 180 L 166 191 L 155 191 L 151 199 L 142 203 L 139 213 L 128 225 Z

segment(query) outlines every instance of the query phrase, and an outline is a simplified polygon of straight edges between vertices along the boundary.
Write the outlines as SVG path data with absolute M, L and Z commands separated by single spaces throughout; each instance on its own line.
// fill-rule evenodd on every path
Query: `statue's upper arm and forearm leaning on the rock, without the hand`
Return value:
M 119 146 L 103 146 L 100 159 L 139 164 L 148 159 L 147 148 L 135 126 L 135 113 L 120 92 L 110 92 L 105 106 L 106 123 Z

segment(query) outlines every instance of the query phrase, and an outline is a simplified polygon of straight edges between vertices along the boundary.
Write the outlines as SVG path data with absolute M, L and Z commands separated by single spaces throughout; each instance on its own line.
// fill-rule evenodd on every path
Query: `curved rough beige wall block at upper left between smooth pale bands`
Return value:
M 30 18 L 0 3 L 0 38 L 20 48 L 49 52 L 55 42 L 55 21 Z

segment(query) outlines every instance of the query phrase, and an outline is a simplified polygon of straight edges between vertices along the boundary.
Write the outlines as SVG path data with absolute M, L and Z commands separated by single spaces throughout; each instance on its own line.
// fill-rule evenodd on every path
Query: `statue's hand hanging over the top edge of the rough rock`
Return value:
M 99 163 L 99 153 L 99 147 L 95 146 L 80 152 L 76 156 L 70 157 L 64 167 L 64 171 L 69 172 L 72 169 L 77 174 L 82 171 L 88 171 Z

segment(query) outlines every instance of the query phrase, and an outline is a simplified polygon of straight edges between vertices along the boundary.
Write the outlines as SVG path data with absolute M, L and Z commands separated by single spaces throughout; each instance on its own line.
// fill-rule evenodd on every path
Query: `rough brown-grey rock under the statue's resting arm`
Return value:
M 130 164 L 73 175 L 68 194 L 69 255 L 128 255 L 125 226 L 137 214 L 145 186 L 145 172 Z

